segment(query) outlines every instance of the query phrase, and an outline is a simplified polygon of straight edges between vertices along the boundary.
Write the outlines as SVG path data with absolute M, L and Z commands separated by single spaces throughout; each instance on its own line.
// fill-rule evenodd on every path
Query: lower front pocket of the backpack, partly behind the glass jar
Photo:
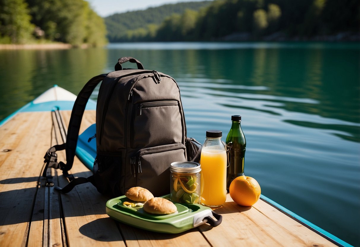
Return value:
M 140 149 L 131 158 L 136 186 L 148 189 L 154 196 L 170 193 L 170 164 L 186 161 L 185 145 L 181 143 Z

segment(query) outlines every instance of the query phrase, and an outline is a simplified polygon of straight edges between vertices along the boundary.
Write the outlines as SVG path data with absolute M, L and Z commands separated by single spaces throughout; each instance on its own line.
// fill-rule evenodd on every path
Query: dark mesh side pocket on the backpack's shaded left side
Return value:
M 97 155 L 94 161 L 94 185 L 98 192 L 120 196 L 121 157 Z

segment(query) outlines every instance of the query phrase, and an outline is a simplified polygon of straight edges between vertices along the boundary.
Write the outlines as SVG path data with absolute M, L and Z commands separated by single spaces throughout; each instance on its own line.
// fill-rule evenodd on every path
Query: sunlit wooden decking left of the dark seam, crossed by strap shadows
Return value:
M 27 242 L 45 145 L 50 144 L 49 114 L 19 113 L 0 128 L 0 149 L 12 149 L 0 152 L 0 246 Z

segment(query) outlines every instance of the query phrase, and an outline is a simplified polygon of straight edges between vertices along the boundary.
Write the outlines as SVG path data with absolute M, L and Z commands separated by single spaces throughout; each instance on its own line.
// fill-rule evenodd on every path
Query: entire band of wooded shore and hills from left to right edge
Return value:
M 103 19 L 85 0 L 0 0 L 0 44 L 359 41 L 359 12 L 359 0 L 213 0 L 167 4 Z

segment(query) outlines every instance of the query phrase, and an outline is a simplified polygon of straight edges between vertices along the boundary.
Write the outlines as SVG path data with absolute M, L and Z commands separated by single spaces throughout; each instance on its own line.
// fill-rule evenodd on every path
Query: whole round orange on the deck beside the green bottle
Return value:
M 260 198 L 261 188 L 252 177 L 239 176 L 229 187 L 230 197 L 241 206 L 252 206 Z

